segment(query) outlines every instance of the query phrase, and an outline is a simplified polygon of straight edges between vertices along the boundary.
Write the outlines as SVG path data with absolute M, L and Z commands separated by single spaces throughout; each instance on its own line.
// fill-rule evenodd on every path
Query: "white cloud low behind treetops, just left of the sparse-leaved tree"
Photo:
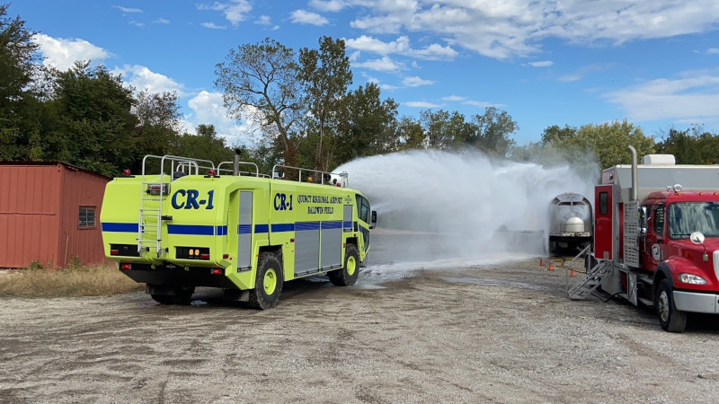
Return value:
M 221 92 L 202 91 L 187 101 L 192 113 L 185 117 L 188 124 L 194 127 L 200 124 L 214 125 L 218 136 L 225 137 L 227 145 L 238 143 L 247 144 L 250 137 L 256 132 L 256 127 L 248 123 L 249 113 L 245 114 L 242 124 L 237 124 L 235 119 L 227 116 L 225 104 L 222 101 Z

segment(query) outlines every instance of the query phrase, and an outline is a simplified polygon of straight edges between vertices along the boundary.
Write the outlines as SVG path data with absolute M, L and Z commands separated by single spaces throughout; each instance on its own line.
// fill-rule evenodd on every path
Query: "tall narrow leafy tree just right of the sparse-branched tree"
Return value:
M 300 80 L 304 82 L 307 108 L 315 120 L 318 141 L 315 168 L 327 171 L 332 154 L 324 152 L 325 128 L 336 127 L 341 100 L 352 83 L 350 58 L 345 56 L 344 40 L 322 37 L 320 48 L 299 51 Z

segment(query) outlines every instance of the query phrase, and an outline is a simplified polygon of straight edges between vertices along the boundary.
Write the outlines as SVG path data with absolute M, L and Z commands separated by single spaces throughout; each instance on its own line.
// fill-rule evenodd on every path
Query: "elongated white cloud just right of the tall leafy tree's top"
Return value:
M 383 42 L 382 40 L 362 35 L 357 39 L 344 40 L 344 43 L 347 48 L 368 51 L 379 55 L 398 54 L 424 59 L 452 59 L 458 55 L 455 49 L 441 46 L 438 43 L 433 43 L 426 48 L 414 49 L 410 45 L 410 39 L 407 36 L 398 37 L 391 42 Z

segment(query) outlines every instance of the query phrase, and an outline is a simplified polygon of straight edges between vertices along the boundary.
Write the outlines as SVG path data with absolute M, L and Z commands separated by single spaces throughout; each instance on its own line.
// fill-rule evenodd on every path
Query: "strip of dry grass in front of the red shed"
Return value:
M 40 265 L 0 274 L 0 296 L 61 297 L 103 296 L 143 290 L 122 274 L 116 264 L 46 269 Z

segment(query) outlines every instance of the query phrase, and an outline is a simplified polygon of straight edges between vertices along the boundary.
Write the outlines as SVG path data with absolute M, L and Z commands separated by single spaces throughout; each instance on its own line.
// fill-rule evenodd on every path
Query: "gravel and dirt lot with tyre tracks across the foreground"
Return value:
M 565 297 L 538 259 L 286 285 L 257 312 L 201 289 L 0 301 L 1 402 L 716 402 L 719 326 Z M 364 286 L 363 286 L 364 285 Z

